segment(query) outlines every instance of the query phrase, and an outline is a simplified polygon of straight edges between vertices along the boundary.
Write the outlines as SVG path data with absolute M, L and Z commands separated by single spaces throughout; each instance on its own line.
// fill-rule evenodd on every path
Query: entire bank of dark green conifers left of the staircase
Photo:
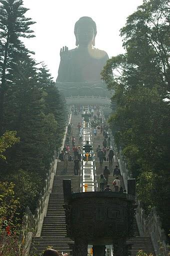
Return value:
M 23 1 L 0 3 L 0 134 L 14 130 L 0 137 L 0 181 L 15 184 L 13 198 L 21 216 L 26 205 L 32 211 L 36 207 L 61 144 L 66 111 L 46 66 L 38 68 L 32 52 L 21 42 L 22 37 L 34 36 L 29 29 L 34 22 L 24 17 Z M 3 199 L 1 193 L 0 203 Z

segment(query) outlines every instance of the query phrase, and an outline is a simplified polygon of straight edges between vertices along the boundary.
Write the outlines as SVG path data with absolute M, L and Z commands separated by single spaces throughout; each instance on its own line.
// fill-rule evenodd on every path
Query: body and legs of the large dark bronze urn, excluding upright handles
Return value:
M 114 256 L 128 254 L 126 239 L 132 232 L 135 196 L 120 192 L 71 193 L 65 199 L 67 236 L 74 240 L 73 255 L 103 256 L 105 245 L 113 244 Z

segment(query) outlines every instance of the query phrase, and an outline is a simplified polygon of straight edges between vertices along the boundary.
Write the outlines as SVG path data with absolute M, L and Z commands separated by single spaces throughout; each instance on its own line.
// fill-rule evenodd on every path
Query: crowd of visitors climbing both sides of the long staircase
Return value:
M 72 106 L 71 110 L 72 110 L 72 114 L 76 115 L 79 112 L 81 112 L 83 108 L 81 105 L 76 107 Z M 96 148 L 96 154 L 99 159 L 100 167 L 102 167 L 103 161 L 109 162 L 109 167 L 104 166 L 103 173 L 100 174 L 100 178 L 99 178 L 100 191 L 111 191 L 111 188 L 108 185 L 108 177 L 110 175 L 110 171 L 112 171 L 114 151 L 110 145 L 110 136 L 108 133 L 108 126 L 106 122 L 102 119 L 99 108 L 97 108 L 96 106 L 89 106 L 89 110 L 91 112 L 90 123 L 92 127 L 92 133 L 94 134 L 94 139 L 95 137 L 97 138 L 97 136 L 101 137 L 103 135 L 102 146 L 98 145 Z M 79 136 L 78 143 L 80 143 L 82 139 L 81 123 L 78 122 L 75 127 L 77 128 L 76 132 Z M 67 127 L 67 134 L 65 137 L 64 148 L 63 150 L 61 150 L 61 153 L 59 154 L 59 160 L 63 161 L 64 172 L 67 171 L 68 161 L 73 161 L 74 175 L 78 175 L 78 172 L 81 166 L 82 150 L 80 145 L 76 145 L 77 141 L 75 141 L 75 136 L 73 135 L 73 128 L 74 126 L 70 122 Z M 70 153 L 71 151 L 73 153 L 73 156 L 71 156 L 71 153 Z M 113 170 L 113 175 L 115 176 L 115 179 L 112 181 L 114 191 L 116 192 L 122 191 L 122 187 L 120 186 L 120 180 L 119 180 L 121 173 L 120 173 L 120 169 L 118 168 L 118 165 L 115 165 L 115 168 Z

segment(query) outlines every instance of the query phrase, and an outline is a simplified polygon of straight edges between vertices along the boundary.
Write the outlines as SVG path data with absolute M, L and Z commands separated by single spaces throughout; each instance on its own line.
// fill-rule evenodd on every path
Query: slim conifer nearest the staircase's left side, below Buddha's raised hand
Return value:
M 39 68 L 38 83 L 46 94 L 44 97 L 45 133 L 48 134 L 48 146 L 46 147 L 44 162 L 49 164 L 54 151 L 57 151 L 61 144 L 63 127 L 65 126 L 66 107 L 45 65 Z

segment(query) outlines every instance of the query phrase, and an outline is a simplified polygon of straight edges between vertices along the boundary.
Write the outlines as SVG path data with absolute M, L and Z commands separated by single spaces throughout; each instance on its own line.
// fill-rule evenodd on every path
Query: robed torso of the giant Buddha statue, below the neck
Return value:
M 78 46 L 68 50 L 61 56 L 56 81 L 99 81 L 107 59 L 107 53 L 95 47 L 88 49 Z

